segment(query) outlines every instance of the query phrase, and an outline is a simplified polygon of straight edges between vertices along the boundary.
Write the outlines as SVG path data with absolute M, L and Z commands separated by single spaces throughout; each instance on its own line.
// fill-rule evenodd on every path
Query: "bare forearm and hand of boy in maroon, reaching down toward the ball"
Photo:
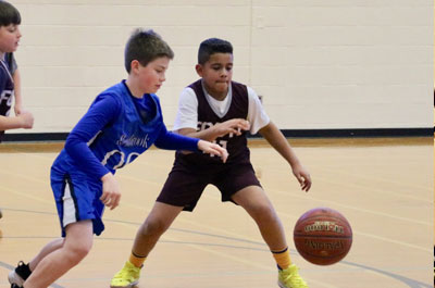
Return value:
M 312 183 L 310 173 L 299 162 L 299 159 L 296 156 L 294 149 L 290 147 L 287 139 L 276 127 L 276 125 L 270 122 L 266 126 L 261 128 L 259 133 L 288 162 L 288 164 L 290 164 L 293 174 L 298 179 L 302 190 L 310 190 Z

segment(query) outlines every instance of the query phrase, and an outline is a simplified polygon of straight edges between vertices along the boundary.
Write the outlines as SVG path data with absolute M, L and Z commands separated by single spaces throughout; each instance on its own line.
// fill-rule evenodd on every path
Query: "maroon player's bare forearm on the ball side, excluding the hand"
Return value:
M 274 123 L 270 122 L 265 127 L 261 128 L 259 133 L 290 164 L 291 167 L 300 164 L 295 150 Z

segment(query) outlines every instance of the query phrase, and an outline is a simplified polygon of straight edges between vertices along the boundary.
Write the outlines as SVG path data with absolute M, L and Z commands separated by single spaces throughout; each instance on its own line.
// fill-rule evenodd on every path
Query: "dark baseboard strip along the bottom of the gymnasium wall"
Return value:
M 287 138 L 433 137 L 434 128 L 282 129 Z M 5 134 L 4 142 L 64 141 L 67 133 Z M 249 135 L 261 138 L 261 135 Z

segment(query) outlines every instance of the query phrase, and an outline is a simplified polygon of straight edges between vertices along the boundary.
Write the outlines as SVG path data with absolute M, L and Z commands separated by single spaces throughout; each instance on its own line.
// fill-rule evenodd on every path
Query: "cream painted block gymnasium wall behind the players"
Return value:
M 263 96 L 282 129 L 432 127 L 432 0 L 11 0 L 33 130 L 70 132 L 96 95 L 126 77 L 124 45 L 153 28 L 175 59 L 159 91 L 171 128 L 197 79 L 198 45 L 235 48 L 234 79 Z

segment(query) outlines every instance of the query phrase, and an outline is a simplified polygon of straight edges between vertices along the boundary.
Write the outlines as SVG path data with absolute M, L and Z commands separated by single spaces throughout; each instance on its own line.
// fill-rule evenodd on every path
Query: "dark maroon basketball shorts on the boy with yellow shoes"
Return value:
M 175 164 L 157 201 L 185 211 L 194 211 L 206 186 L 212 184 L 222 195 L 222 201 L 233 201 L 232 196 L 248 186 L 260 186 L 250 163 L 209 165 L 207 168 Z

